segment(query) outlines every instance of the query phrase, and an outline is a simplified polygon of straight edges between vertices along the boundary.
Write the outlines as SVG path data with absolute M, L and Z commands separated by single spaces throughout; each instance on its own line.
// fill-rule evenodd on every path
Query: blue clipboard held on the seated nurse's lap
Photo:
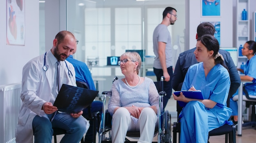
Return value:
M 174 94 L 176 96 L 179 96 L 180 95 L 180 92 L 183 93 L 183 95 L 186 97 L 186 98 L 191 98 L 191 99 L 200 99 L 200 100 L 203 100 L 204 97 L 202 95 L 202 92 L 201 91 L 175 91 Z M 182 101 L 178 101 L 179 105 L 181 107 L 184 107 L 186 106 L 186 102 L 182 102 Z

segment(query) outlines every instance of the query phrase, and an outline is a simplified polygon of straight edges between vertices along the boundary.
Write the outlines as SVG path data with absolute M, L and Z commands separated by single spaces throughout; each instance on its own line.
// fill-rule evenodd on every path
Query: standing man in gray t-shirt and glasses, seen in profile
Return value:
M 173 25 L 177 20 L 177 11 L 172 7 L 166 7 L 163 12 L 163 21 L 159 24 L 153 33 L 153 48 L 155 60 L 153 64 L 154 73 L 157 76 L 157 81 L 164 76 L 164 96 L 163 106 L 165 108 L 168 99 L 171 98 L 172 86 L 171 79 L 173 76 L 172 56 L 171 56 L 171 35 L 167 27 Z

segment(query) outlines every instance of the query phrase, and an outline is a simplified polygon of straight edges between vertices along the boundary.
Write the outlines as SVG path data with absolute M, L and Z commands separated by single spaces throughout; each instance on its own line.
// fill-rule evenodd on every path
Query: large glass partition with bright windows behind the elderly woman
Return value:
M 107 65 L 108 56 L 120 56 L 126 50 L 143 50 L 144 57 L 154 56 L 153 30 L 162 22 L 162 13 L 167 6 L 177 9 L 178 15 L 175 24 L 168 26 L 172 45 L 178 47 L 173 51 L 174 65 L 178 54 L 184 50 L 185 0 L 66 1 L 67 30 L 79 40 L 74 58 L 90 67 L 94 79 L 112 80 L 114 76 L 123 76 L 119 66 Z M 141 76 L 153 69 L 152 62 L 147 66 L 144 63 Z

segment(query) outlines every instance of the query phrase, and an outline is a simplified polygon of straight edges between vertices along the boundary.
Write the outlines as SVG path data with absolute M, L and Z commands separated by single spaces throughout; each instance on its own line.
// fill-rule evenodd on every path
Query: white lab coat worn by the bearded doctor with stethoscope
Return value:
M 18 125 L 16 129 L 16 143 L 32 143 L 33 129 L 32 121 L 36 115 L 43 116 L 45 112 L 41 110 L 45 102 L 49 102 L 51 97 L 53 65 L 49 62 L 49 52 L 46 54 L 47 71 L 43 70 L 44 54 L 29 61 L 22 70 L 22 91 L 20 98 L 22 105 L 18 118 Z M 60 62 L 60 83 L 76 86 L 75 71 L 71 63 L 66 61 L 69 70 L 73 77 L 69 77 L 68 69 L 64 61 Z M 55 66 L 55 65 L 54 65 Z M 55 68 L 54 68 L 55 69 Z

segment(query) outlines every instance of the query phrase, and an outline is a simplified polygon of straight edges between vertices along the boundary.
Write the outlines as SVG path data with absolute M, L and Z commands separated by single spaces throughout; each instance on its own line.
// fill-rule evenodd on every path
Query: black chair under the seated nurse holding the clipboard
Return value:
M 229 107 L 229 99 L 230 96 L 227 98 L 227 106 Z M 178 104 L 178 103 L 177 103 Z M 179 117 L 179 114 L 178 114 Z M 177 143 L 177 132 L 180 132 L 180 122 L 173 123 L 173 143 Z M 219 136 L 225 134 L 225 143 L 229 141 L 229 143 L 236 143 L 236 125 L 228 125 L 225 124 L 219 128 L 211 130 L 209 132 L 208 137 L 210 136 Z M 179 142 L 180 142 L 180 134 L 179 134 Z

